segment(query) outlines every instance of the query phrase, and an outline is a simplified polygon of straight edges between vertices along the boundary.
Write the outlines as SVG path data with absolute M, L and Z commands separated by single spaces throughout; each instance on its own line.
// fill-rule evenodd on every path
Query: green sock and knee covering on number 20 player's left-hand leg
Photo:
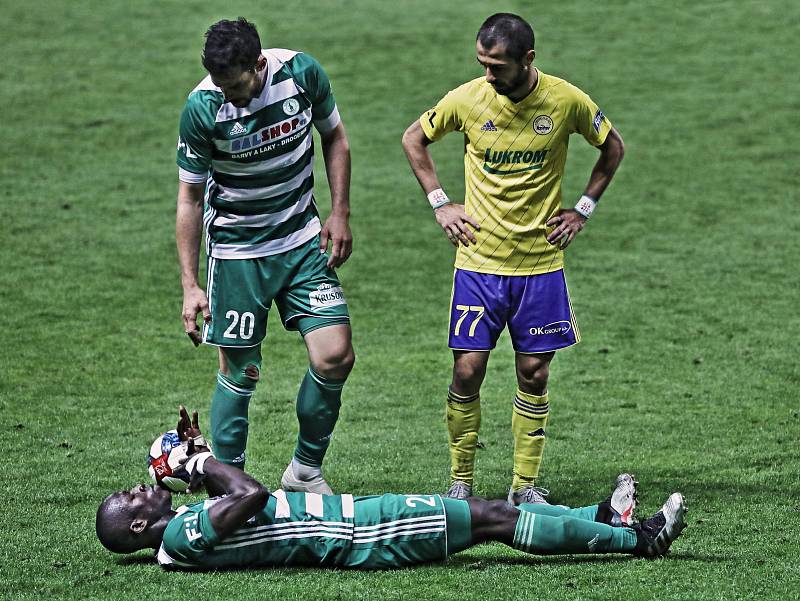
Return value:
M 211 442 L 219 461 L 244 469 L 247 413 L 261 371 L 261 348 L 226 347 L 222 352 L 228 373 L 217 373 L 211 397 Z

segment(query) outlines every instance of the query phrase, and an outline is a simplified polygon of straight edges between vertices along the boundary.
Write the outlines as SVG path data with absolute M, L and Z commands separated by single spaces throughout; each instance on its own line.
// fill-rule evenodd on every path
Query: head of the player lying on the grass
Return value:
M 172 495 L 138 484 L 108 495 L 97 509 L 95 529 L 102 545 L 114 553 L 133 553 L 157 546 L 154 526 L 172 511 Z

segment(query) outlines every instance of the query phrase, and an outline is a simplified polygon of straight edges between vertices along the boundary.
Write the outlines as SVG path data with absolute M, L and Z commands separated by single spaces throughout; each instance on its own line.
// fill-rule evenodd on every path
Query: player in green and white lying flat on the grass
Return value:
M 200 434 L 181 408 L 179 431 Z M 617 478 L 605 501 L 570 509 L 440 495 L 354 497 L 270 493 L 247 473 L 190 444 L 193 489 L 202 482 L 224 496 L 172 509 L 172 495 L 140 484 L 106 497 L 97 511 L 97 536 L 115 553 L 158 549 L 165 568 L 246 566 L 397 568 L 441 561 L 487 541 L 527 553 L 666 553 L 686 526 L 683 496 L 673 493 L 660 511 L 636 522 L 636 482 Z

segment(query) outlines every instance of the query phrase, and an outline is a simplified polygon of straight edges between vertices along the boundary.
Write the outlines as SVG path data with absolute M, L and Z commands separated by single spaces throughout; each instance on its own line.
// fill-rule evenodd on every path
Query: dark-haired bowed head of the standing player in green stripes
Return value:
M 223 19 L 208 28 L 203 66 L 227 102 L 241 108 L 258 96 L 266 64 L 256 26 L 244 17 Z

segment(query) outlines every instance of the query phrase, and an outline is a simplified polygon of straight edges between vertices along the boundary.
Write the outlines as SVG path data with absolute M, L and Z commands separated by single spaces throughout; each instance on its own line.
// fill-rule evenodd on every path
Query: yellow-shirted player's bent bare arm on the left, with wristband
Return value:
M 437 223 L 442 227 L 453 246 L 476 243 L 473 229 L 481 229 L 478 222 L 464 210 L 464 205 L 450 202 L 439 184 L 436 166 L 428 146 L 431 140 L 422 131 L 419 121 L 414 121 L 403 134 L 403 150 L 422 190 L 434 210 Z

